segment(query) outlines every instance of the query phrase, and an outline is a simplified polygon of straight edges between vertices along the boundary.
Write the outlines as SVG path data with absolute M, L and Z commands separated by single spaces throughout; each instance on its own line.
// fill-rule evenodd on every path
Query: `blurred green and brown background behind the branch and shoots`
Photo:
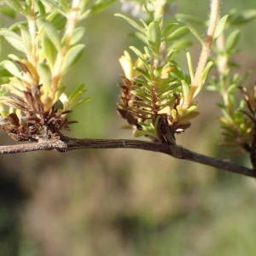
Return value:
M 178 2 L 179 12 L 207 18 L 208 1 Z M 223 14 L 256 8 L 254 0 L 222 2 Z M 86 51 L 67 84 L 85 82 L 92 101 L 75 109 L 79 124 L 70 136 L 131 138 L 115 104 L 118 58 L 135 40 L 113 17 L 118 11 L 116 3 L 84 22 Z M 242 30 L 241 72 L 256 67 L 255 27 L 253 21 Z M 201 115 L 178 143 L 229 157 L 218 145 L 218 96 L 204 92 L 198 101 Z M 1 141 L 10 143 L 3 134 Z M 253 178 L 135 149 L 3 155 L 0 165 L 1 256 L 255 255 Z

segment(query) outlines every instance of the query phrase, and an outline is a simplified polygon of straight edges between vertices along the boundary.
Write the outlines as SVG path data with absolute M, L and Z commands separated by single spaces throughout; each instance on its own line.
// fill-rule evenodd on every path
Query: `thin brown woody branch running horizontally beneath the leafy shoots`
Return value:
M 160 143 L 148 143 L 139 140 L 125 139 L 78 139 L 64 137 L 63 140 L 54 139 L 39 143 L 26 143 L 10 146 L 0 146 L 0 154 L 25 153 L 39 150 L 58 150 L 66 152 L 82 148 L 137 148 L 148 151 L 160 152 L 171 155 L 177 159 L 190 160 L 207 166 L 216 167 L 228 172 L 236 172 L 241 175 L 256 177 L 256 171 L 245 166 L 239 166 L 226 160 L 218 160 L 203 154 L 197 154 L 189 149 L 177 145 L 164 145 Z

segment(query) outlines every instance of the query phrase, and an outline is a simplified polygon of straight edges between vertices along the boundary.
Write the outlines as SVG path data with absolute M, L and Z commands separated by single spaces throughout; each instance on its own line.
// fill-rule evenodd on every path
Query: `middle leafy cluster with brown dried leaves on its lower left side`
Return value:
M 191 119 L 198 115 L 196 102 L 183 107 L 191 78 L 175 61 L 175 56 L 189 46 L 184 39 L 189 29 L 177 22 L 163 26 L 162 18 L 148 24 L 141 20 L 139 24 L 118 16 L 137 29 L 137 37 L 144 44 L 143 50 L 130 47 L 135 61 L 127 51 L 119 59 L 125 75 L 120 84 L 118 111 L 133 127 L 136 137 L 174 144 L 175 135 L 189 128 Z

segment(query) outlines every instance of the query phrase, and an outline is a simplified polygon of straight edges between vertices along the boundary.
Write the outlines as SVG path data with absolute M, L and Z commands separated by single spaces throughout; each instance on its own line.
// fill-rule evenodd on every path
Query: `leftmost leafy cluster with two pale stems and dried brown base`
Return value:
M 62 82 L 84 49 L 85 2 L 4 1 L 26 18 L 0 29 L 16 50 L 0 63 L 0 128 L 17 141 L 61 136 L 73 123 L 67 113 L 87 100 L 84 84 L 67 96 Z

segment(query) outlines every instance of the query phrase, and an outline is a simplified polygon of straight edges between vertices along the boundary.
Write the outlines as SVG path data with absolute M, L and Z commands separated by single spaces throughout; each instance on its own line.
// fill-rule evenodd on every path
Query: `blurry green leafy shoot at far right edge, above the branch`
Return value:
M 223 129 L 223 144 L 232 149 L 241 147 L 250 152 L 253 148 L 255 92 L 248 93 L 245 88 L 249 72 L 242 75 L 236 71 L 239 64 L 232 61 L 238 50 L 241 37 L 240 25 L 245 25 L 256 18 L 256 10 L 248 9 L 241 12 L 231 10 L 227 15 L 224 33 L 216 41 L 213 62 L 218 70 L 217 76 L 212 76 L 207 88 L 218 91 L 222 102 L 218 104 L 223 116 L 220 118 Z

